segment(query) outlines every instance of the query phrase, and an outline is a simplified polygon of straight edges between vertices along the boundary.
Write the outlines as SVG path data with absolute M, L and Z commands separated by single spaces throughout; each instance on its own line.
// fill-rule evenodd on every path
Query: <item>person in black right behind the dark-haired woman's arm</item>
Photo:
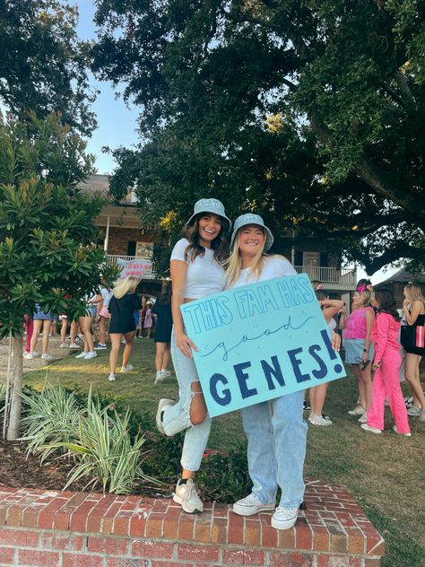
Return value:
M 155 384 L 169 377 L 167 370 L 170 359 L 169 345 L 171 343 L 171 329 L 173 317 L 171 315 L 171 282 L 162 282 L 160 297 L 155 301 L 152 316 L 156 320 L 155 326 Z

